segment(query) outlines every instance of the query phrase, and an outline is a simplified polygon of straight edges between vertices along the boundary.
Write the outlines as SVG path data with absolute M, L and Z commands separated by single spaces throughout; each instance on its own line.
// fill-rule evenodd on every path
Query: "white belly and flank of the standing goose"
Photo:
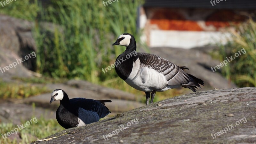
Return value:
M 140 68 L 140 59 L 133 63 L 132 72 L 124 81 L 133 88 L 143 92 L 151 92 L 153 90 L 163 92 L 172 89 L 163 74 L 158 73 L 152 68 Z

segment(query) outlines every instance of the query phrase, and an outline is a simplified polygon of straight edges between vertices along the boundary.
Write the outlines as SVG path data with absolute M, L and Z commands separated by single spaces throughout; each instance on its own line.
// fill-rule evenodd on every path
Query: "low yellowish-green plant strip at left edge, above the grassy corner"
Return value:
M 5 83 L 0 81 L 0 99 L 20 99 L 50 92 L 46 87 L 31 84 Z

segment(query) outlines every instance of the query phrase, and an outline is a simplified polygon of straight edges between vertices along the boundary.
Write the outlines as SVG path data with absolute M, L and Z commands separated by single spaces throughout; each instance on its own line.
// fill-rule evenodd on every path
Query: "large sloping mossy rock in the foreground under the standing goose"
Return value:
M 111 138 L 103 138 L 121 124 L 127 128 Z M 230 125 L 234 127 L 231 129 Z M 218 136 L 217 132 L 226 127 L 227 133 Z M 162 100 L 33 143 L 255 143 L 255 127 L 256 88 L 246 87 Z M 216 133 L 216 138 L 211 133 Z

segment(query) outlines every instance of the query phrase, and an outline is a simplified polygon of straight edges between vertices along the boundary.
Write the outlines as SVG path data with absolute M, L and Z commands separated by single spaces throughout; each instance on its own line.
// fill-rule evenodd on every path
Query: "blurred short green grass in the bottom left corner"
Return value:
M 35 115 L 35 104 L 32 104 L 32 108 L 33 108 L 33 115 Z M 32 116 L 31 119 L 33 119 L 34 117 L 35 116 Z M 26 122 L 29 120 L 21 120 L 21 124 L 25 126 Z M 31 143 L 32 141 L 36 141 L 36 139 L 40 140 L 56 132 L 65 130 L 63 127 L 60 126 L 60 124 L 57 122 L 56 119 L 46 120 L 43 115 L 41 117 L 36 117 L 36 119 L 31 120 L 31 122 L 32 124 L 30 123 L 29 126 L 19 130 L 18 134 L 21 137 L 21 141 L 19 142 L 20 144 Z M 0 133 L 5 134 L 17 127 L 18 127 L 17 124 L 13 124 L 12 122 L 0 123 Z M 0 143 L 1 144 L 17 144 L 18 141 L 17 139 L 12 140 L 8 137 L 3 139 L 1 137 Z

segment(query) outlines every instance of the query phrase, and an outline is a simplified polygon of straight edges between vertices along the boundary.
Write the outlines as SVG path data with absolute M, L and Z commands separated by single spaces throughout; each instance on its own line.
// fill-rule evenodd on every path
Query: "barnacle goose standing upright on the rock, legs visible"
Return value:
M 184 71 L 187 67 L 179 67 L 154 54 L 136 52 L 136 41 L 131 34 L 120 35 L 113 45 L 126 46 L 126 50 L 116 58 L 117 75 L 133 88 L 146 93 L 146 105 L 150 93 L 152 103 L 156 92 L 180 86 L 196 92 L 199 84 L 204 85 L 203 80 Z

